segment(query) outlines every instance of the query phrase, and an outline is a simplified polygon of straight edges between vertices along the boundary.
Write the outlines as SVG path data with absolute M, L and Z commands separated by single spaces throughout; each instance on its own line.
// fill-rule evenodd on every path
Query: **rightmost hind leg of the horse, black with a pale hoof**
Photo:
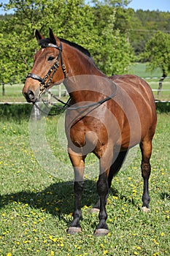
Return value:
M 143 195 L 142 195 L 142 211 L 150 211 L 150 195 L 149 195 L 149 178 L 150 178 L 150 157 L 152 154 L 152 139 L 142 140 L 140 143 L 142 152 L 142 178 L 143 178 Z

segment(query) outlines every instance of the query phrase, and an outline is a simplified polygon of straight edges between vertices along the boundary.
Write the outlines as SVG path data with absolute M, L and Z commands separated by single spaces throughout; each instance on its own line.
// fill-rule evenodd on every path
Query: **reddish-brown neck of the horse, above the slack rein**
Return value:
M 98 101 L 100 99 L 97 89 L 99 80 L 107 76 L 96 67 L 92 58 L 71 46 L 69 48 L 71 50 L 65 52 L 69 75 L 64 85 L 72 102 Z

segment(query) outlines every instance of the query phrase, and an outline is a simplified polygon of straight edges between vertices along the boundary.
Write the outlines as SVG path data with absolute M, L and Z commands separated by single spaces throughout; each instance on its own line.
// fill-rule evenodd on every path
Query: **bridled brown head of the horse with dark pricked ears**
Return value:
M 66 78 L 66 67 L 63 64 L 63 47 L 60 39 L 55 37 L 50 29 L 50 37 L 45 38 L 38 30 L 35 37 L 41 46 L 34 55 L 34 66 L 28 73 L 23 87 L 23 95 L 28 102 L 36 102 L 45 89 L 50 89 L 54 83 L 62 83 Z

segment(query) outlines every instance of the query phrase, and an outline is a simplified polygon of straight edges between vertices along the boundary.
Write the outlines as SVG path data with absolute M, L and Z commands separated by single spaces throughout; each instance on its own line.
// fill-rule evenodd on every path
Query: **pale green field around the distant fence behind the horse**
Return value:
M 152 89 L 158 89 L 158 80 L 161 78 L 161 70 L 155 70 L 155 72 L 146 71 L 146 64 L 144 63 L 136 63 L 132 64 L 131 68 L 128 71 L 128 74 L 138 75 L 147 83 L 150 84 Z M 1 89 L 1 86 L 0 86 Z M 5 85 L 5 96 L 3 97 L 0 93 L 0 102 L 26 102 L 22 94 L 23 84 L 20 85 Z M 64 86 L 61 87 L 62 93 L 64 93 Z M 58 94 L 58 87 L 54 87 L 55 95 Z M 158 97 L 157 91 L 153 91 L 155 99 L 158 100 L 170 100 L 170 78 L 166 78 L 163 81 L 163 90 L 161 95 Z

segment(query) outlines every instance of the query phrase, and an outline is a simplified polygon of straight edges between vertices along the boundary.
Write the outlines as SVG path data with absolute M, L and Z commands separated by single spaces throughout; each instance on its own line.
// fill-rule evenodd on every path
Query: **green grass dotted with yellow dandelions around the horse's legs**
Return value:
M 98 223 L 97 215 L 89 212 L 97 198 L 94 174 L 88 174 L 85 181 L 82 233 L 66 234 L 72 221 L 74 193 L 72 178 L 63 175 L 69 157 L 56 135 L 58 118 L 47 118 L 45 134 L 54 156 L 60 158 L 56 171 L 61 176 L 53 176 L 36 161 L 29 142 L 28 118 L 1 119 L 0 255 L 170 255 L 170 115 L 158 114 L 151 159 L 150 213 L 140 211 L 142 177 L 137 151 L 133 162 L 113 180 L 106 237 L 93 236 Z M 89 162 L 95 162 L 92 156 L 87 165 Z M 69 173 L 73 177 L 71 165 Z

